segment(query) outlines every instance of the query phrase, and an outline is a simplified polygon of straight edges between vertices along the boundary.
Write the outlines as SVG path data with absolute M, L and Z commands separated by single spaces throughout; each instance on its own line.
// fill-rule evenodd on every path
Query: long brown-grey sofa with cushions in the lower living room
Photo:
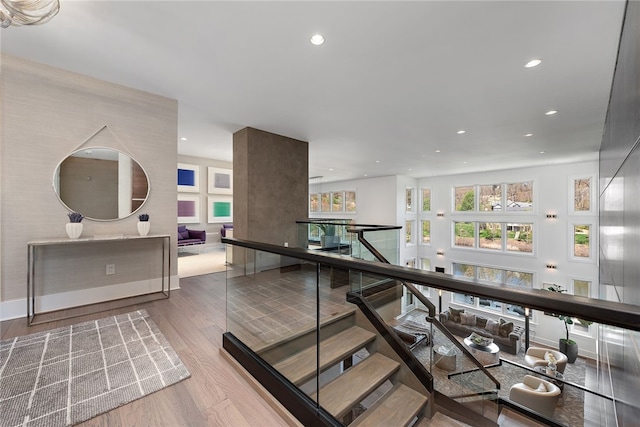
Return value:
M 473 332 L 487 338 L 500 348 L 511 354 L 518 354 L 522 345 L 524 328 L 514 325 L 511 321 L 502 318 L 491 319 L 472 313 L 465 313 L 464 308 L 449 307 L 447 311 L 440 313 L 440 323 L 449 331 L 460 337 L 468 337 Z

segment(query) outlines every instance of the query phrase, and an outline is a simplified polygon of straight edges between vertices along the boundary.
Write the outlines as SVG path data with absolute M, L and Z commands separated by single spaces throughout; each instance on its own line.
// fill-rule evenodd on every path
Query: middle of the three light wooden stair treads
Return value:
M 379 353 L 347 369 L 342 375 L 320 389 L 320 406 L 341 419 L 356 403 L 384 383 L 400 364 Z M 316 400 L 318 393 L 311 398 Z

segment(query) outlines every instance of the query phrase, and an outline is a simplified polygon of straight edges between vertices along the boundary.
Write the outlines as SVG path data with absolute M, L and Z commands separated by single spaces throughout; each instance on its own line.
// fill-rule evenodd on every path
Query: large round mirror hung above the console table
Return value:
M 137 211 L 149 196 L 147 173 L 129 155 L 103 147 L 83 148 L 60 162 L 53 190 L 71 211 L 113 221 Z

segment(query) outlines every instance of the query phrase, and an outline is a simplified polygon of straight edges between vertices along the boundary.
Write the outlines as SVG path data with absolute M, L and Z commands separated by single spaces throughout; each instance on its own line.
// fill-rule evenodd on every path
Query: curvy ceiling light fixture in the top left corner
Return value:
M 0 27 L 44 24 L 58 11 L 59 0 L 0 0 Z

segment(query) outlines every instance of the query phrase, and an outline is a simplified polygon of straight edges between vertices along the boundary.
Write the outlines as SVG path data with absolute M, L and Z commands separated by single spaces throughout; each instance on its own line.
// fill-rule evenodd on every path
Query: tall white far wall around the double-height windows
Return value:
M 571 188 L 573 179 L 592 176 L 592 210 L 588 213 L 573 214 L 571 212 Z M 419 180 L 420 188 L 431 188 L 431 214 L 423 215 L 431 219 L 431 244 L 418 246 L 418 257 L 431 259 L 432 270 L 435 266 L 445 267 L 451 273 L 452 263 L 469 263 L 491 266 L 495 268 L 509 268 L 518 271 L 532 272 L 534 286 L 542 288 L 543 283 L 555 283 L 564 288 L 570 288 L 572 279 L 589 280 L 592 282 L 591 296 L 597 297 L 598 266 L 598 211 L 596 183 L 598 182 L 598 163 L 583 162 L 545 166 L 535 168 L 521 168 L 513 170 L 474 173 L 463 175 L 439 176 Z M 496 218 L 506 218 L 505 213 L 490 213 L 488 215 L 454 212 L 452 209 L 452 189 L 455 186 L 474 184 L 499 184 L 510 182 L 533 181 L 534 210 L 532 212 L 509 215 L 521 222 L 534 224 L 534 254 L 496 253 L 495 251 L 470 250 L 456 248 L 451 245 L 453 220 L 484 220 L 500 221 Z M 443 212 L 444 217 L 436 216 Z M 556 219 L 547 219 L 547 213 L 557 214 Z M 591 259 L 578 261 L 572 259 L 572 224 L 591 224 L 590 247 Z M 437 255 L 443 250 L 444 255 Z M 557 269 L 548 269 L 547 264 L 553 263 Z M 443 306 L 450 301 L 451 296 L 443 295 Z M 434 300 L 437 300 L 437 295 Z M 491 312 L 489 312 L 491 313 Z M 521 324 L 523 322 L 520 322 Z M 557 318 L 534 312 L 531 322 L 532 340 L 557 347 L 558 339 L 564 337 L 564 325 Z M 591 330 L 595 328 L 592 326 Z M 593 356 L 595 341 L 593 338 L 571 335 L 578 341 L 581 354 Z

